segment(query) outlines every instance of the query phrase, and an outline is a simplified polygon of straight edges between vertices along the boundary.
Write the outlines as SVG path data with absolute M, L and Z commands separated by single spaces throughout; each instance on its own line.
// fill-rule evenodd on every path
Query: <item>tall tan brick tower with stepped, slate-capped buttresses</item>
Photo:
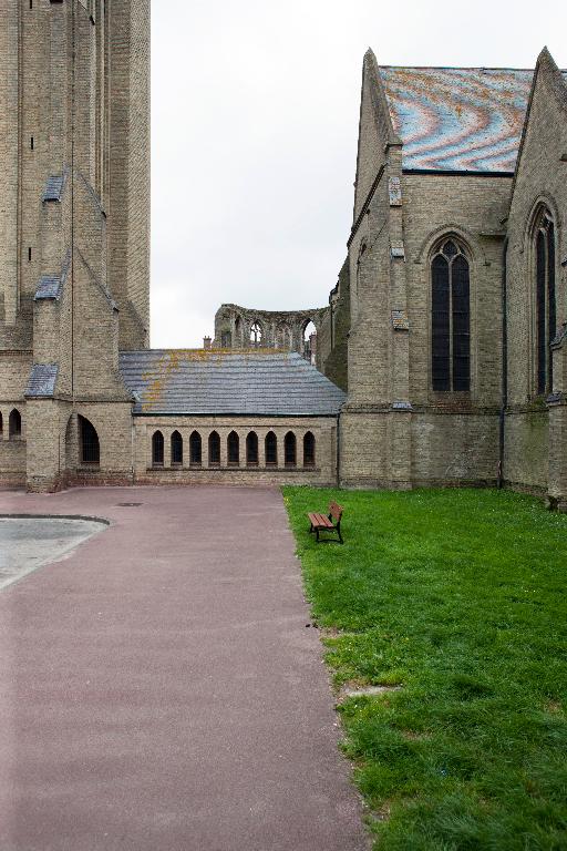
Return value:
M 150 0 L 2 0 L 0 483 L 128 480 L 148 294 Z

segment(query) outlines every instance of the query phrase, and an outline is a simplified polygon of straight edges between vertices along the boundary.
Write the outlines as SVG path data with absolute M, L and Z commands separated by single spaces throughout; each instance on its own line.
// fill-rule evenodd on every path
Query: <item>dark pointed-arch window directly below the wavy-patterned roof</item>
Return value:
M 468 259 L 451 238 L 431 260 L 431 376 L 435 391 L 471 389 Z

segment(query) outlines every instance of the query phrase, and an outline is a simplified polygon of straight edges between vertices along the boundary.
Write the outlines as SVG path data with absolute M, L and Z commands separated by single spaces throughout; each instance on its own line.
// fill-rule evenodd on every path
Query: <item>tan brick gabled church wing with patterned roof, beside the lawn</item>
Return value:
M 547 50 L 535 72 L 367 53 L 329 319 L 343 485 L 504 483 L 567 510 L 566 217 L 567 76 Z

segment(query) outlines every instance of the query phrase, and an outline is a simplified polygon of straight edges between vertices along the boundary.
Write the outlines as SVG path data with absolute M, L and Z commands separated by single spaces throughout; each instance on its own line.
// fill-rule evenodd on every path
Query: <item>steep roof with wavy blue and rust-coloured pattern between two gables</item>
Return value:
M 379 68 L 403 168 L 513 174 L 533 73 Z

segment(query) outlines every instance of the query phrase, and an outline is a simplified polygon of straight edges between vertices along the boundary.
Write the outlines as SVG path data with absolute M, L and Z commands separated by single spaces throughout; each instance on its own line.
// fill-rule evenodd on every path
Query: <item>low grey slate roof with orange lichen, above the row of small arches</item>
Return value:
M 346 394 L 297 352 L 123 351 L 134 413 L 336 416 Z

